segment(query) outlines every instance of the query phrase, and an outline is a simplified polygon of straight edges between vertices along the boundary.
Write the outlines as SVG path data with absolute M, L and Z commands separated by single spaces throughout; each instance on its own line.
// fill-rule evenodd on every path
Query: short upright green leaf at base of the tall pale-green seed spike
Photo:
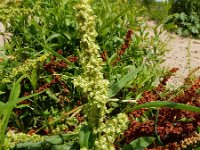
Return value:
M 89 138 L 92 133 L 92 129 L 88 125 L 83 125 L 79 132 L 79 144 L 80 148 L 89 148 Z

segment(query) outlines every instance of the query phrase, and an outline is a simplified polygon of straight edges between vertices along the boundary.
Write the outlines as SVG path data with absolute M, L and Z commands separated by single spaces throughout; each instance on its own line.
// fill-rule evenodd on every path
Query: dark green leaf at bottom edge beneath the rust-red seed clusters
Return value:
M 130 144 L 125 145 L 122 150 L 143 150 L 153 143 L 155 137 L 140 137 L 132 141 Z

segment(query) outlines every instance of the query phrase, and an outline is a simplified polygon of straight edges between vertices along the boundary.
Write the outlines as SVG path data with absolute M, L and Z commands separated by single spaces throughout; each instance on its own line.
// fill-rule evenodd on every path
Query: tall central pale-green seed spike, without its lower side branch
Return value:
M 79 32 L 81 34 L 80 64 L 82 75 L 73 82 L 80 87 L 88 97 L 88 104 L 84 111 L 88 118 L 88 124 L 96 128 L 103 122 L 108 101 L 109 82 L 103 78 L 101 72 L 103 61 L 99 54 L 99 46 L 95 43 L 97 32 L 95 30 L 95 18 L 89 0 L 81 0 L 75 6 Z

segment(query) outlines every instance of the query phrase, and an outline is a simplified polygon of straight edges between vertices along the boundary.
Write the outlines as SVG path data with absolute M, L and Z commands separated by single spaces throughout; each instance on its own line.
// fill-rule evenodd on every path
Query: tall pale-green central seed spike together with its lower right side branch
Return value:
M 75 7 L 79 32 L 81 34 L 81 52 L 79 61 L 82 66 L 82 74 L 74 79 L 74 85 L 80 87 L 87 95 L 88 103 L 84 108 L 84 114 L 95 133 L 95 149 L 114 149 L 113 142 L 122 131 L 126 129 L 128 118 L 126 114 L 118 114 L 117 117 L 105 121 L 107 113 L 109 81 L 104 79 L 102 69 L 103 61 L 99 54 L 99 46 L 95 43 L 97 32 L 95 30 L 95 16 L 89 0 L 81 0 Z

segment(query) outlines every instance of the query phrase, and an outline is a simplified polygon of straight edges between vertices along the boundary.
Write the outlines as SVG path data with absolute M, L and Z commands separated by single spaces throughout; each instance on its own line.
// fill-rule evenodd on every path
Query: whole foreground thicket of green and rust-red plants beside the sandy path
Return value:
M 149 36 L 138 6 L 0 5 L 11 35 L 0 53 L 0 150 L 198 147 L 199 80 L 165 89 L 176 69 L 160 68 L 161 31 Z

